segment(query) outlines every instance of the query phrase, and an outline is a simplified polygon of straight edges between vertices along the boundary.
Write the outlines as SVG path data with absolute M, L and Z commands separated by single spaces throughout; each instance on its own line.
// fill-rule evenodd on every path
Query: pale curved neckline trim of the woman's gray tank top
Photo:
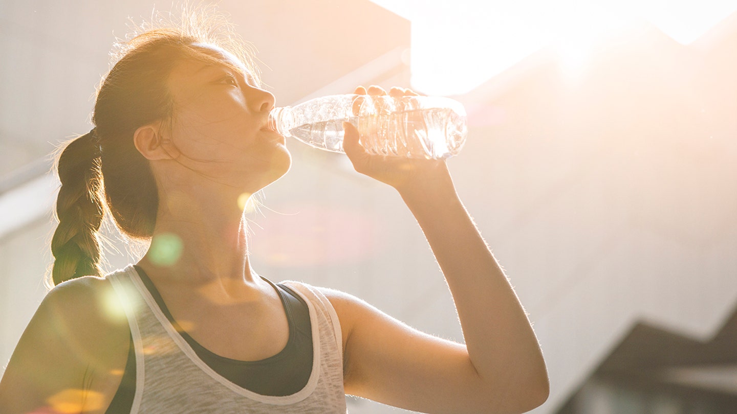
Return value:
M 198 368 L 200 368 L 200 370 L 204 371 L 206 374 L 211 376 L 213 379 L 217 380 L 217 382 L 220 382 L 221 384 L 226 385 L 226 387 L 230 388 L 236 393 L 239 393 L 242 396 L 247 396 L 248 398 L 255 399 L 256 401 L 263 401 L 263 402 L 267 402 L 271 404 L 292 404 L 296 401 L 301 401 L 307 398 L 307 396 L 310 396 L 310 394 L 315 390 L 315 387 L 317 387 L 319 376 L 320 376 L 320 358 L 321 358 L 320 332 L 318 329 L 319 323 L 318 323 L 317 314 L 316 314 L 317 311 L 315 310 L 309 298 L 306 298 L 304 296 L 304 293 L 299 292 L 296 289 L 293 290 L 293 292 L 296 292 L 300 296 L 300 298 L 302 298 L 307 303 L 307 308 L 310 314 L 310 325 L 312 326 L 312 372 L 310 373 L 310 379 L 307 380 L 307 385 L 305 385 L 301 390 L 298 390 L 296 393 L 293 393 L 287 396 L 268 396 L 268 395 L 262 395 L 259 393 L 255 393 L 254 391 L 248 390 L 247 388 L 240 387 L 240 385 L 234 384 L 234 382 L 231 382 L 228 379 L 226 379 L 226 377 L 221 376 L 219 373 L 217 373 L 212 368 L 210 368 L 209 365 L 206 364 L 206 362 L 200 359 L 200 357 L 197 355 L 195 350 L 189 345 L 189 343 L 186 342 L 184 337 L 181 335 L 180 331 L 178 331 L 178 329 L 181 329 L 181 326 L 178 326 L 178 324 L 176 326 L 173 325 L 168 319 L 167 315 L 164 315 L 164 311 L 158 306 L 158 304 L 156 303 L 156 299 L 153 298 L 153 295 L 151 294 L 151 292 L 149 292 L 138 270 L 139 270 L 139 267 L 137 265 L 130 266 L 130 275 L 131 275 L 130 279 L 131 281 L 133 281 L 133 284 L 136 286 L 140 295 L 142 295 L 142 298 L 144 299 L 148 308 L 153 313 L 154 317 L 156 317 L 158 322 L 164 328 L 164 331 L 167 331 L 168 336 L 174 341 L 174 343 L 178 346 L 178 348 L 180 348 L 180 350 L 186 355 L 186 357 L 188 357 L 193 363 L 195 363 L 195 365 L 197 365 Z M 262 277 L 262 276 L 259 276 L 259 277 Z M 267 279 L 264 278 L 264 280 L 267 280 Z M 268 282 L 271 283 L 270 281 Z M 167 309 L 167 312 L 168 312 L 168 309 Z M 293 335 L 293 330 L 292 330 L 292 327 L 290 326 L 290 339 L 292 335 Z M 280 351 L 280 354 L 282 351 Z M 217 355 L 217 354 L 214 354 L 214 355 Z M 272 357 L 276 357 L 278 355 L 279 354 L 276 354 L 276 355 L 273 355 Z M 269 358 L 272 358 L 272 357 L 269 357 Z M 221 358 L 225 358 L 225 357 L 221 357 Z M 269 358 L 261 359 L 259 361 L 240 361 L 238 359 L 231 359 L 231 360 L 234 362 L 245 362 L 245 363 L 256 362 L 258 363 L 258 362 L 262 362 L 265 360 L 270 361 Z

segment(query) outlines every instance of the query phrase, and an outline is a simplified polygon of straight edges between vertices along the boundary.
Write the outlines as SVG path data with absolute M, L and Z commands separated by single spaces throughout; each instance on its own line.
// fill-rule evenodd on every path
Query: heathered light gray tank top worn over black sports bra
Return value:
M 310 379 L 289 396 L 264 396 L 235 385 L 206 365 L 161 312 L 133 266 L 106 278 L 124 304 L 133 337 L 136 394 L 130 413 L 347 413 L 338 315 L 314 287 L 283 282 L 310 311 L 314 353 Z

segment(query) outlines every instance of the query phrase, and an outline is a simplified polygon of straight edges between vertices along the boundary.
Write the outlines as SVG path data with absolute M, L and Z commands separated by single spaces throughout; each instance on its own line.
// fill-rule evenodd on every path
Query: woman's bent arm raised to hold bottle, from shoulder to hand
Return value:
M 466 345 L 409 328 L 328 292 L 343 331 L 346 393 L 426 413 L 523 413 L 548 397 L 537 338 L 508 279 L 455 193 L 444 161 L 368 155 L 346 125 L 358 172 L 394 186 L 453 295 Z

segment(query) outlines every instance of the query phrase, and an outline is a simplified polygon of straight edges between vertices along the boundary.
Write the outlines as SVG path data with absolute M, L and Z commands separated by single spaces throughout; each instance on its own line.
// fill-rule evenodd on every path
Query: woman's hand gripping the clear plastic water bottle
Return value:
M 366 88 L 359 86 L 355 94 L 367 94 Z M 368 88 L 368 95 L 386 95 L 386 91 L 378 86 Z M 389 96 L 394 98 L 405 96 L 416 96 L 411 89 L 391 88 Z M 413 190 L 422 190 L 427 184 L 437 185 L 450 183 L 450 174 L 444 160 L 406 158 L 396 155 L 370 154 L 363 147 L 362 142 L 371 139 L 360 136 L 357 128 L 350 122 L 343 122 L 345 137 L 343 138 L 343 150 L 353 163 L 354 169 L 371 178 L 394 187 L 400 194 Z

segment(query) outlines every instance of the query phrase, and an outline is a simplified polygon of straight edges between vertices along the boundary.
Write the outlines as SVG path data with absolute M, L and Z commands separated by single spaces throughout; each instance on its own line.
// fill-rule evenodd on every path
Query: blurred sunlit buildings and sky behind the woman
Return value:
M 548 363 L 534 413 L 737 413 L 737 1 L 219 4 L 277 105 L 374 84 L 466 105 L 449 165 Z M 91 128 L 113 41 L 153 8 L 0 0 L 0 373 L 46 294 L 49 154 Z M 287 144 L 292 171 L 247 216 L 256 272 L 462 341 L 399 195 Z M 137 260 L 114 245 L 108 270 Z

